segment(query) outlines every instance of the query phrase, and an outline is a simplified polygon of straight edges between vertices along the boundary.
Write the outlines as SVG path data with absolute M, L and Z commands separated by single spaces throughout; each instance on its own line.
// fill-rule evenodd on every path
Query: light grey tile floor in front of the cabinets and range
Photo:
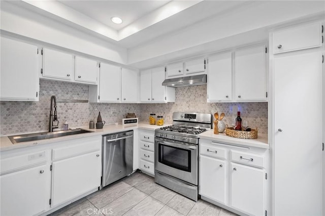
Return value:
M 50 215 L 236 215 L 202 199 L 194 202 L 135 172 Z

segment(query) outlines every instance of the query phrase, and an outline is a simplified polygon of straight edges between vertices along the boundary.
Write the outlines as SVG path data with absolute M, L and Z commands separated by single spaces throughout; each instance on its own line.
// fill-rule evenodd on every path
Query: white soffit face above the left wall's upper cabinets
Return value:
M 45 43 L 126 64 L 127 50 L 33 13 L 17 5 L 1 1 L 1 29 Z

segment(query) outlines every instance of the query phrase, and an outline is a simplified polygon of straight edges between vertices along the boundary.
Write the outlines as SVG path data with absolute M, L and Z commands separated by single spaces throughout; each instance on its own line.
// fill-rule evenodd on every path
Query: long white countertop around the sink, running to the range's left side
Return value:
M 81 133 L 81 134 L 61 136 L 61 137 L 56 137 L 56 138 L 51 138 L 51 139 L 19 142 L 16 144 L 13 144 L 9 140 L 8 136 L 1 136 L 0 137 L 0 152 L 13 150 L 13 149 L 19 149 L 19 148 L 25 148 L 25 147 L 29 147 L 29 146 L 44 145 L 44 144 L 48 144 L 48 143 L 52 143 L 52 142 L 66 141 L 66 140 L 76 139 L 76 138 L 98 136 L 98 135 L 104 135 L 104 134 L 108 134 L 108 133 L 117 133 L 117 132 L 126 131 L 126 130 L 145 129 L 145 130 L 154 131 L 155 129 L 160 128 L 160 127 L 161 126 L 157 126 L 157 125 L 149 125 L 148 123 L 145 123 L 145 122 L 140 122 L 138 125 L 135 125 L 135 126 L 123 126 L 120 124 L 118 124 L 118 125 L 115 125 L 115 124 L 104 125 L 103 129 L 89 129 L 89 127 L 84 126 L 84 127 L 77 127 L 77 128 L 89 130 L 89 131 L 92 131 L 92 133 Z M 22 133 L 20 133 L 20 134 L 22 134 Z M 12 136 L 12 135 L 18 135 L 18 134 L 10 134 L 9 136 Z

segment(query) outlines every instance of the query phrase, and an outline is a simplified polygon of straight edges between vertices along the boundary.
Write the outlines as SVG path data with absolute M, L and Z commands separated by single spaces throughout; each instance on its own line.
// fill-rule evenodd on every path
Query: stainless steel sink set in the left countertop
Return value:
M 54 132 L 21 134 L 21 135 L 16 135 L 16 136 L 8 136 L 8 138 L 10 139 L 10 141 L 13 144 L 15 144 L 18 142 L 50 139 L 50 138 L 56 138 L 56 137 L 61 137 L 61 136 L 69 136 L 69 135 L 80 134 L 80 133 L 89 133 L 89 132 L 92 132 L 92 131 L 83 130 L 83 129 L 60 130 L 60 131 L 54 131 Z

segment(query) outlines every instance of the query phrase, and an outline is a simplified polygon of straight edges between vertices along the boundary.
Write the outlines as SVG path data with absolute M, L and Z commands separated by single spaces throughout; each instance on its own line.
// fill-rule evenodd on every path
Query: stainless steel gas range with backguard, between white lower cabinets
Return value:
M 174 113 L 173 125 L 155 130 L 155 182 L 198 200 L 198 134 L 212 128 L 212 115 Z

